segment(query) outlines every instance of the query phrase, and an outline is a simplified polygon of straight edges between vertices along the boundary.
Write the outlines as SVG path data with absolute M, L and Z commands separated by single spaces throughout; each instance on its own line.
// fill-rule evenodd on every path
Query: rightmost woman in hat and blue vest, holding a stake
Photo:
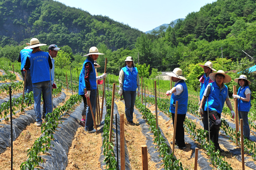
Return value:
M 237 95 L 233 94 L 233 98 L 237 99 L 239 119 L 243 119 L 244 137 L 250 140 L 248 113 L 251 108 L 251 90 L 249 88 L 251 82 L 247 79 L 246 75 L 241 75 L 239 78 L 234 79 L 234 81 L 240 87 L 238 88 Z

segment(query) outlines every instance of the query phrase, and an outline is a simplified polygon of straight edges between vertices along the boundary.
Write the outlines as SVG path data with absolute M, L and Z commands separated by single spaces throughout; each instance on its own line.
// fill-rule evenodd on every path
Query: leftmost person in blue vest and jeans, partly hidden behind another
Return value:
M 26 63 L 26 59 L 31 52 L 32 52 L 32 49 L 23 49 L 20 51 L 20 55 L 18 57 L 18 62 L 21 62 L 21 75 L 23 77 L 23 81 L 25 81 L 25 74 L 26 74 L 26 70 L 24 69 L 24 66 Z M 33 91 L 33 87 L 32 87 L 32 80 L 31 80 L 31 71 L 29 69 L 27 70 L 27 75 L 26 75 L 25 94 L 30 93 L 31 91 Z

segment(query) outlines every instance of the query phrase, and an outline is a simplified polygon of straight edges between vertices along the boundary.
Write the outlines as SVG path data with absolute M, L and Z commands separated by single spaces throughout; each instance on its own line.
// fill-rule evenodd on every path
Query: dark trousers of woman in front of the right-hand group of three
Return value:
M 219 144 L 219 131 L 222 125 L 221 114 L 216 111 L 209 111 L 209 118 L 212 120 L 212 125 L 210 127 L 210 138 L 214 142 L 215 148 L 220 148 Z

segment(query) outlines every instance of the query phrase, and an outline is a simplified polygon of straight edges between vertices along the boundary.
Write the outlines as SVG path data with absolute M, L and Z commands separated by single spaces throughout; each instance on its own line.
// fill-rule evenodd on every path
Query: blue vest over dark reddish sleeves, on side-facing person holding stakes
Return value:
M 90 57 L 87 57 L 87 59 L 85 60 L 85 62 L 83 64 L 83 68 L 82 68 L 82 70 L 80 72 L 80 76 L 79 76 L 79 88 L 78 88 L 78 94 L 79 95 L 85 94 L 84 89 L 86 88 L 86 86 L 85 86 L 85 63 L 86 62 L 91 62 L 91 64 L 92 64 L 92 71 L 91 71 L 90 77 L 89 77 L 91 90 L 96 90 L 97 89 L 96 72 L 95 72 L 95 67 L 94 67 L 94 61 Z

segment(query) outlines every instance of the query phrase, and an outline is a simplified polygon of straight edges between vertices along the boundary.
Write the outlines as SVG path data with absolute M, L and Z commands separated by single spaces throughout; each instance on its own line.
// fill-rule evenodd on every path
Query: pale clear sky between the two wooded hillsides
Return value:
M 88 11 L 92 15 L 103 15 L 128 24 L 132 28 L 148 31 L 216 0 L 58 0 L 67 6 Z

